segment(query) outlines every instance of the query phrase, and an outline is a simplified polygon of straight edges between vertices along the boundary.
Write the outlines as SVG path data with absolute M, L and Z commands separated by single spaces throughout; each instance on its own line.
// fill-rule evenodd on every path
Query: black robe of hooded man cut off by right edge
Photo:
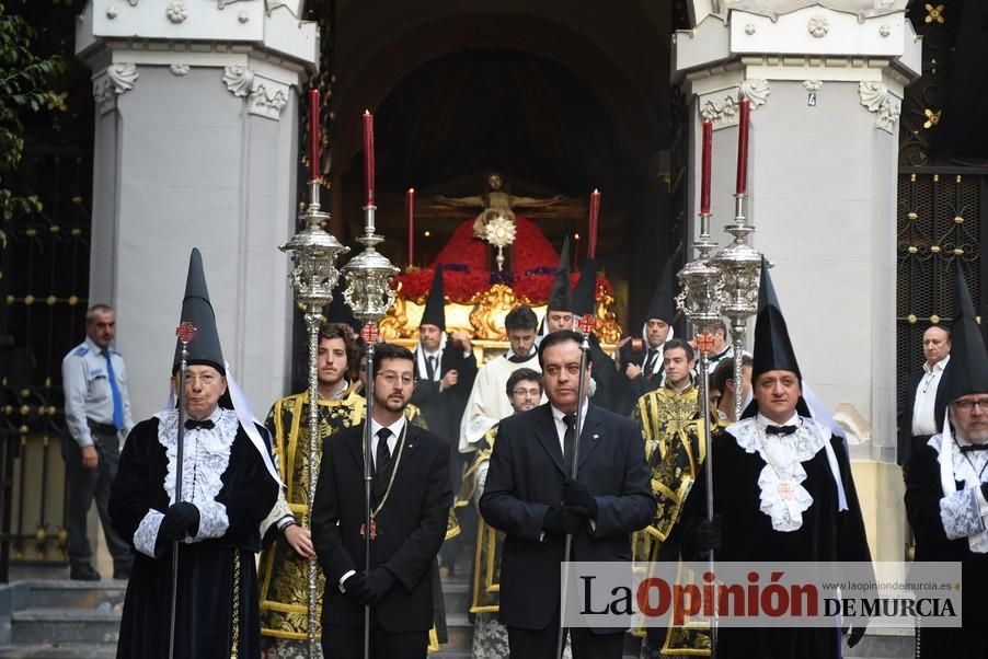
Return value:
M 937 435 L 931 443 L 939 442 Z M 988 475 L 988 474 L 986 474 Z M 940 482 L 940 451 L 932 446 L 918 449 L 906 463 L 906 515 L 916 534 L 916 560 L 957 560 L 962 564 L 961 616 L 963 627 L 920 628 L 916 656 L 923 659 L 988 659 L 988 554 L 970 551 L 967 537 L 950 540 L 940 516 L 943 485 Z M 985 478 L 985 475 L 981 476 Z M 957 492 L 966 487 L 956 482 Z

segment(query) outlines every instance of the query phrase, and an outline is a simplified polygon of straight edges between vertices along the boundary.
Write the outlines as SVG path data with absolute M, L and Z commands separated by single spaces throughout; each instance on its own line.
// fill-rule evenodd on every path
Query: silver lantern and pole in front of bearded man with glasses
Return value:
M 383 236 L 376 233 L 372 205 L 364 207 L 364 235 L 357 239 L 364 251 L 354 256 L 343 267 L 346 289 L 343 297 L 356 317 L 364 325 L 360 335 L 364 337 L 367 355 L 367 384 L 364 395 L 367 396 L 367 411 L 364 419 L 364 573 L 370 571 L 370 543 L 375 535 L 374 519 L 370 511 L 370 415 L 374 409 L 374 344 L 378 337 L 378 323 L 394 303 L 394 289 L 390 286 L 391 277 L 399 273 L 388 257 L 377 251 Z M 364 608 L 364 657 L 370 657 L 370 606 Z

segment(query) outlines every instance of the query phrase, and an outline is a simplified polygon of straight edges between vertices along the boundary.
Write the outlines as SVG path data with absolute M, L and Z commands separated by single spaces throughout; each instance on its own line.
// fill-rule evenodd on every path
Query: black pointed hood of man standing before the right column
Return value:
M 803 373 L 796 361 L 796 352 L 793 350 L 792 340 L 789 338 L 789 328 L 785 326 L 785 317 L 779 298 L 776 297 L 776 287 L 769 275 L 769 266 L 765 257 L 761 259 L 761 278 L 758 282 L 758 315 L 755 320 L 755 363 L 751 367 L 751 386 L 758 377 L 768 371 L 792 371 L 803 382 Z M 742 414 L 742 418 L 754 416 L 758 412 L 758 401 L 751 402 Z M 801 416 L 813 416 L 803 396 L 796 403 L 796 413 Z

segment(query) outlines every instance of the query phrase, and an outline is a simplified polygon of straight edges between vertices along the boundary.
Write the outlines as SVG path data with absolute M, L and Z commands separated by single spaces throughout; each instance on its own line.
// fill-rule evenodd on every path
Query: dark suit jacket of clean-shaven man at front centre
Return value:
M 597 501 L 597 519 L 593 531 L 588 524 L 574 535 L 573 558 L 630 562 L 631 533 L 646 527 L 655 512 L 644 442 L 634 423 L 589 405 L 577 475 Z M 564 539 L 541 536 L 545 512 L 562 501 L 564 478 L 548 404 L 501 421 L 480 511 L 506 533 L 501 620 L 507 625 L 542 629 L 559 611 Z

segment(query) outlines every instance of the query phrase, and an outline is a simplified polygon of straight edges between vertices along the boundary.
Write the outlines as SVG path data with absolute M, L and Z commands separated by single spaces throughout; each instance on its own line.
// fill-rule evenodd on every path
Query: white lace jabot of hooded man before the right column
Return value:
M 802 485 L 806 479 L 802 463 L 830 446 L 830 431 L 814 419 L 795 417 L 796 431 L 792 435 L 768 435 L 763 417 L 758 416 L 728 426 L 727 432 L 745 452 L 758 453 L 766 463 L 758 475 L 758 487 L 761 512 L 771 518 L 772 529 L 797 531 L 803 525 L 803 512 L 813 505 L 813 497 Z

